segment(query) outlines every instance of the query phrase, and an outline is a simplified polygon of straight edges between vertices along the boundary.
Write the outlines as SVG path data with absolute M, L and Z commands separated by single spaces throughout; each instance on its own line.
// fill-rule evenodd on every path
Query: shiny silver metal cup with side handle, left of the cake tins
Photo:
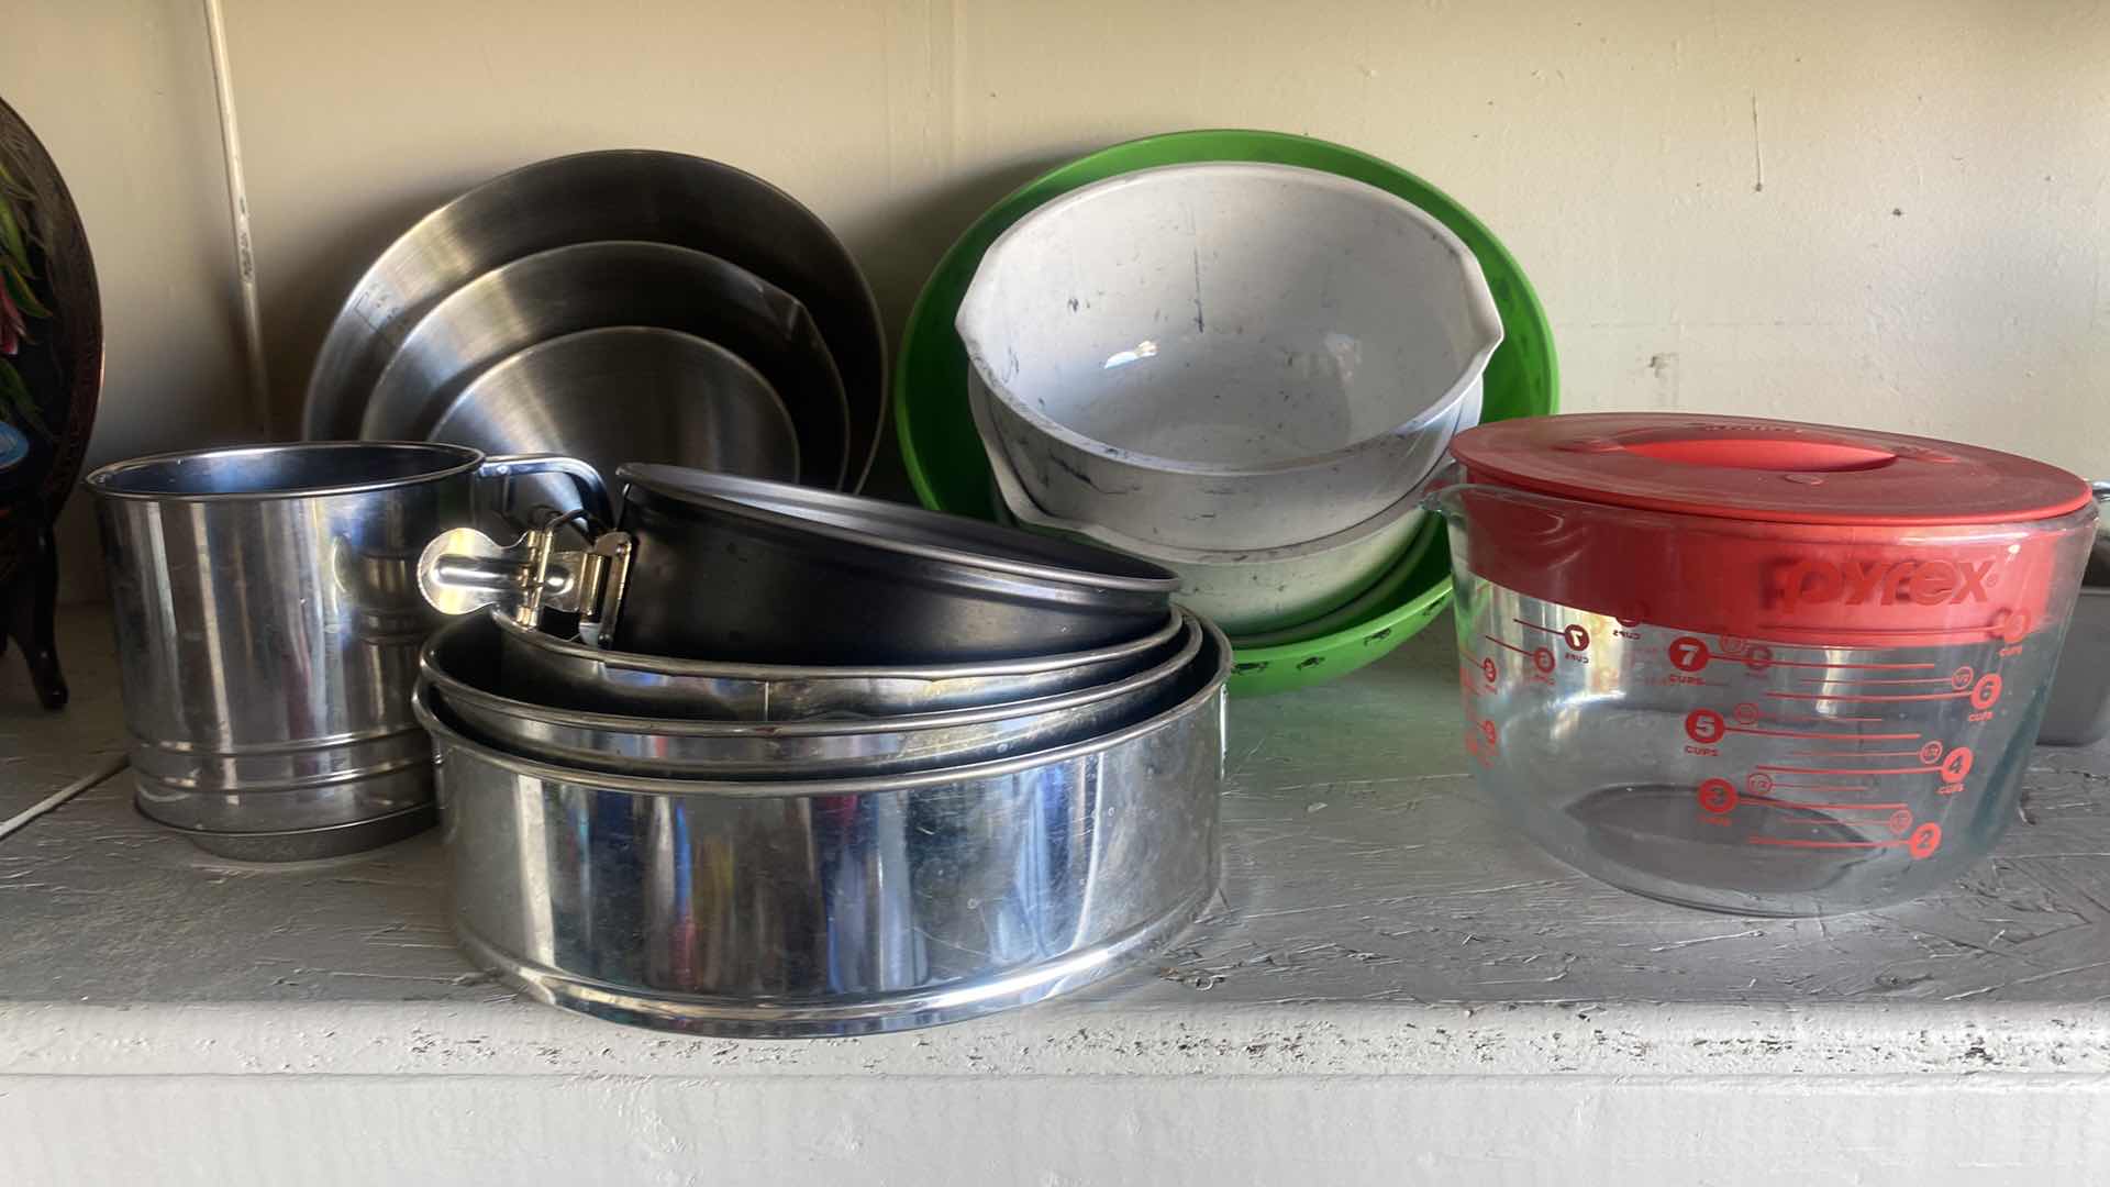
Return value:
M 418 594 L 418 553 L 475 513 L 479 473 L 572 467 L 314 444 L 89 475 L 139 811 L 247 860 L 348 853 L 426 828 L 430 743 L 409 689 L 439 615 Z

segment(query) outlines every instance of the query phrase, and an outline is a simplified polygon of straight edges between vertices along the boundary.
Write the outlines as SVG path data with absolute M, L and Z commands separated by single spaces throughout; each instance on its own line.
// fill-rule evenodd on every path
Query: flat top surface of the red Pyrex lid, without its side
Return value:
M 1758 416 L 1534 416 L 1469 429 L 1452 454 L 1473 482 L 1772 524 L 2013 524 L 2091 501 L 2080 477 L 2015 454 Z

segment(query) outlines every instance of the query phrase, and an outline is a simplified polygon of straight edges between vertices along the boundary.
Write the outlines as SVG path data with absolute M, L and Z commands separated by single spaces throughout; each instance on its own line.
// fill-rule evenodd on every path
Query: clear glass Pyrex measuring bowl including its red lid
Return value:
M 1992 847 L 2093 536 L 2087 484 L 1747 418 L 1511 425 L 1460 437 L 1431 505 L 1464 748 L 1534 841 L 1741 915 L 1903 902 Z

